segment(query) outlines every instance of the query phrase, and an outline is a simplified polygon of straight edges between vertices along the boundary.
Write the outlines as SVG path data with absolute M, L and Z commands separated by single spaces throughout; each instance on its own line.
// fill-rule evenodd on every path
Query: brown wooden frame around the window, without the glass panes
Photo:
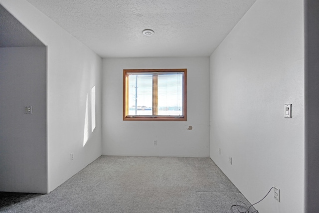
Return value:
M 126 78 L 127 72 L 183 72 L 183 116 L 157 116 L 157 99 L 153 98 L 153 113 L 152 116 L 128 116 L 129 114 L 129 101 L 128 101 L 128 80 Z M 154 78 L 154 76 L 153 76 Z M 153 79 L 157 84 L 157 79 Z M 153 94 L 157 94 L 157 86 L 153 85 Z M 187 69 L 124 69 L 123 70 L 123 120 L 124 121 L 186 121 L 187 120 Z

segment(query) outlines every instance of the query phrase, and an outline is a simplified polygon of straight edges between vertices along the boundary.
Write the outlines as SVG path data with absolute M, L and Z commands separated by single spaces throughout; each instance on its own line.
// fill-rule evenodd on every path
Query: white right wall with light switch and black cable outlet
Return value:
M 303 9 L 257 0 L 210 57 L 210 156 L 251 203 L 280 188 L 261 213 L 304 212 Z

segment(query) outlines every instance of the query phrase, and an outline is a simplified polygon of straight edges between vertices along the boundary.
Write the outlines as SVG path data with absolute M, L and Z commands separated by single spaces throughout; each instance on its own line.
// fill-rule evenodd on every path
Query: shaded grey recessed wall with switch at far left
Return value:
M 46 47 L 0 48 L 0 91 L 0 191 L 46 193 Z

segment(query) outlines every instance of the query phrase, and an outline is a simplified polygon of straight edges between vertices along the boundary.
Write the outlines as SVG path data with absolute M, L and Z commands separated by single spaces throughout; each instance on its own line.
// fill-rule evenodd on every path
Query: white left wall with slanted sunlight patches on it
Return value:
M 47 192 L 51 192 L 102 153 L 102 59 L 27 1 L 0 3 L 47 45 Z M 91 133 L 90 94 L 94 85 L 97 125 Z

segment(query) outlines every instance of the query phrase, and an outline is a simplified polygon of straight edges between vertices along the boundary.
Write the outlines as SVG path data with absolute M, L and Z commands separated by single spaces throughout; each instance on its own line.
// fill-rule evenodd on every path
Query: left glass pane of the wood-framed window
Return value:
M 129 115 L 152 115 L 152 75 L 128 75 Z

